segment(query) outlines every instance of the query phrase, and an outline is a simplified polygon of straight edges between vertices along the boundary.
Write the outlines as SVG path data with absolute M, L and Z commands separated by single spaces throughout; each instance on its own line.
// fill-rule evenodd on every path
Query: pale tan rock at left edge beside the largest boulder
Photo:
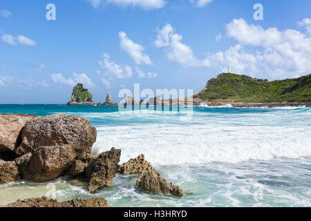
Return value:
M 0 114 L 0 152 L 14 151 L 21 129 L 35 115 Z

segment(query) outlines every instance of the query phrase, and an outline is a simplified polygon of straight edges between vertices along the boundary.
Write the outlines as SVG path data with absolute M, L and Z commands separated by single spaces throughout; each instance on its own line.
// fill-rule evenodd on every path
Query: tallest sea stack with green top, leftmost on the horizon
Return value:
M 93 95 L 84 88 L 83 84 L 77 84 L 73 88 L 70 102 L 67 105 L 90 105 L 94 106 Z

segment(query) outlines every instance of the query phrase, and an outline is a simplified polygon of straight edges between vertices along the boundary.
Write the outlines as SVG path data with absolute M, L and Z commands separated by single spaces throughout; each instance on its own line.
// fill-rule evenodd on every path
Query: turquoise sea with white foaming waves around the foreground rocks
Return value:
M 113 106 L 0 105 L 0 113 L 81 115 L 97 128 L 93 153 L 144 153 L 185 196 L 144 193 L 117 175 L 95 195 L 67 177 L 0 186 L 0 204 L 51 195 L 103 197 L 111 206 L 311 206 L 311 108 L 190 107 L 118 111 Z

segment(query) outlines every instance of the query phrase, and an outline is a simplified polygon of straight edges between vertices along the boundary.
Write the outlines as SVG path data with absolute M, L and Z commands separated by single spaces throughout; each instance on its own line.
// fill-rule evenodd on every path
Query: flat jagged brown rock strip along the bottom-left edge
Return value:
M 68 200 L 57 202 L 57 200 L 48 199 L 45 196 L 41 198 L 28 198 L 17 200 L 6 206 L 0 207 L 110 207 L 103 198 L 92 198 L 85 200 Z

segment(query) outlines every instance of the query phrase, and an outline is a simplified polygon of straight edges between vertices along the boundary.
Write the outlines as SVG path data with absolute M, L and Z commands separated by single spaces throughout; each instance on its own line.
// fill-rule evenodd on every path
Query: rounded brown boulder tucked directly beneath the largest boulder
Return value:
M 35 152 L 23 155 L 15 162 L 23 179 L 46 182 L 62 175 L 75 157 L 74 148 L 66 144 L 37 148 Z

